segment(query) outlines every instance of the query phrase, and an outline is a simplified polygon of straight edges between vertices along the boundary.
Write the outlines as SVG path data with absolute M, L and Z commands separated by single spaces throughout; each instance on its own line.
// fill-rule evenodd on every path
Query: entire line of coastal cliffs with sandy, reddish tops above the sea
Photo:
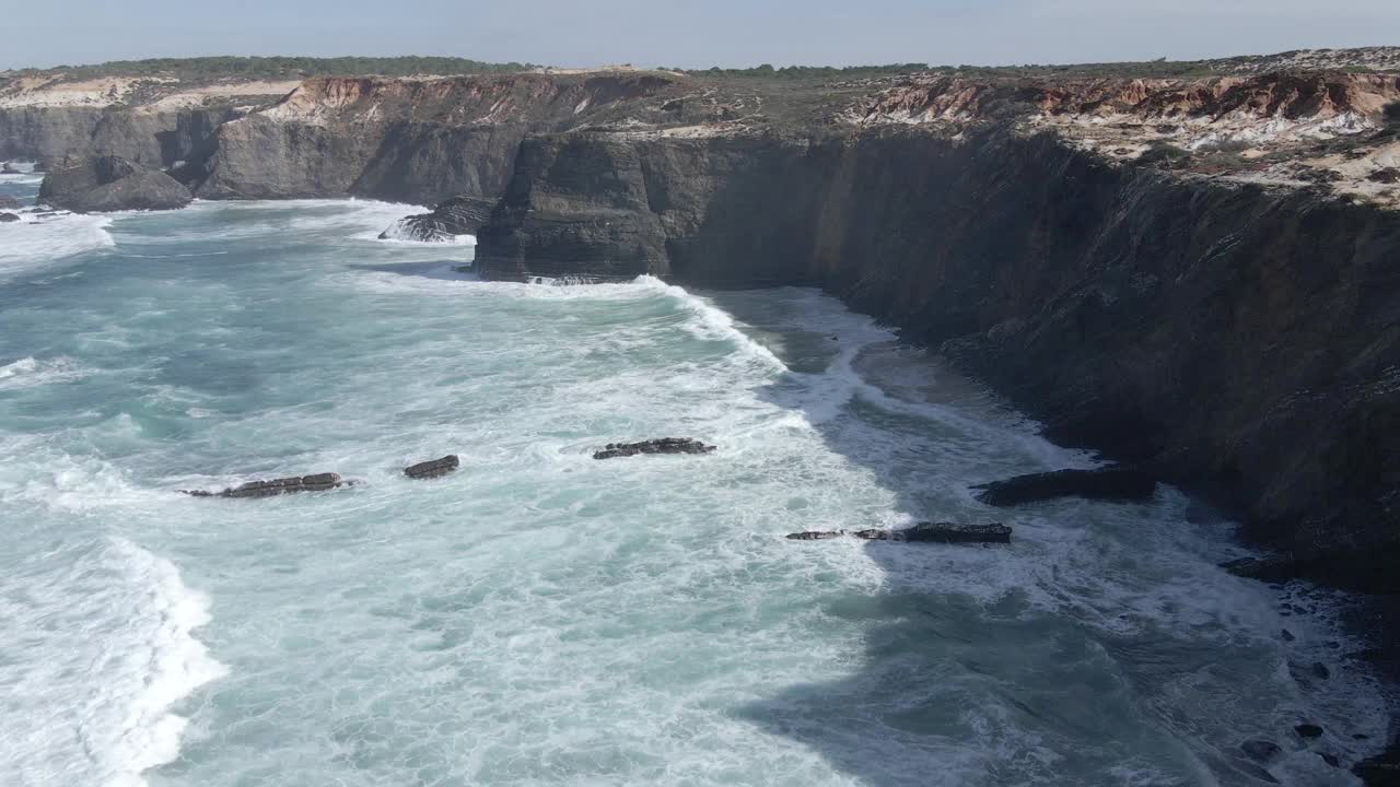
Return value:
M 323 78 L 253 108 L 6 108 L 0 155 L 122 155 L 202 199 L 486 203 L 455 227 L 490 279 L 816 286 L 1389 612 L 1396 80 Z

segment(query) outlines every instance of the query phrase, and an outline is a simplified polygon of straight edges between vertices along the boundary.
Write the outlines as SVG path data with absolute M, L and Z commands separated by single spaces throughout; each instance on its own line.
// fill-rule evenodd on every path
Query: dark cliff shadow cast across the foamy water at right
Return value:
M 903 354 L 907 361 L 914 351 L 875 343 L 855 358 L 858 370 L 837 368 L 853 361 L 843 339 L 827 332 L 794 335 L 771 311 L 771 298 L 707 295 L 776 339 L 771 344 L 790 372 L 760 396 L 805 410 L 832 451 L 871 472 L 893 496 L 897 514 L 910 521 L 1002 521 L 1016 528 L 1009 548 L 865 545 L 865 555 L 883 571 L 885 588 L 874 595 L 830 597 L 823 609 L 862 632 L 864 654 L 854 672 L 833 682 L 788 686 L 738 710 L 741 717 L 804 744 L 861 784 L 876 787 L 1026 784 L 1047 776 L 1058 784 L 1124 783 L 1131 773 L 1145 777 L 1144 783 L 1259 783 L 1256 766 L 1233 751 L 1221 752 L 1239 742 L 1233 735 L 1242 731 L 1229 728 L 1238 718 L 1219 724 L 1173 718 L 1179 711 L 1169 695 L 1176 690 L 1172 681 L 1197 669 L 1257 674 L 1266 651 L 1221 651 L 1208 640 L 1166 633 L 1165 625 L 1106 632 L 1105 619 L 1141 618 L 1140 599 L 1093 598 L 1110 584 L 1093 584 L 1092 574 L 1105 562 L 1120 560 L 1123 552 L 1151 555 L 1154 546 L 1121 545 L 1119 538 L 1133 539 L 1124 534 L 1113 536 L 1112 545 L 1095 543 L 1103 528 L 1126 520 L 1187 527 L 1176 508 L 1184 506 L 1182 500 L 1163 501 L 1159 494 L 1140 506 L 1065 501 L 1053 504 L 1049 514 L 1042 507 L 987 507 L 972 497 L 969 485 L 1075 458 L 1015 426 L 1011 413 L 1002 410 L 1005 420 L 997 419 L 998 405 L 980 386 L 942 371 L 937 385 L 923 389 L 927 412 L 904 412 L 899 402 L 878 406 L 871 398 L 881 392 L 851 388 L 843 415 L 830 417 L 829 401 L 799 391 L 822 381 L 864 385 L 847 371 L 897 374 L 903 361 L 896 357 L 882 372 L 875 368 L 879 358 Z M 921 357 L 913 364 L 934 368 Z M 988 413 L 991 419 L 983 420 Z M 1084 521 L 1070 525 L 1065 536 L 1064 522 L 1046 527 L 1047 515 Z M 834 525 L 888 527 L 871 521 Z M 1056 542 L 1063 538 L 1088 556 L 1065 560 L 1067 545 Z M 832 548 L 832 542 L 791 542 L 791 549 Z M 1050 605 L 1060 606 L 1053 613 L 1046 609 L 1047 594 Z M 1271 700 L 1225 702 L 1235 702 L 1247 716 L 1263 714 Z M 1218 738 L 1225 734 L 1231 739 Z

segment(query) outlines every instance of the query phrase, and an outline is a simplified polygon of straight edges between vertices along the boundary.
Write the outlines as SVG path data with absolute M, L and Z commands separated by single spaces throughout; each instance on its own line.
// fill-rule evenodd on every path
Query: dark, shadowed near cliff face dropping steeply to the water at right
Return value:
M 806 283 L 941 346 L 1053 438 L 1400 590 L 1400 214 L 1002 127 L 533 139 L 487 276 Z

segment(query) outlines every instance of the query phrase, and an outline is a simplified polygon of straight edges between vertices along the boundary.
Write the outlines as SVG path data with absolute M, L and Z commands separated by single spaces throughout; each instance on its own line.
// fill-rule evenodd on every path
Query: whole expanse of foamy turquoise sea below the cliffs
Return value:
M 867 318 L 482 283 L 374 239 L 412 211 L 0 225 L 0 783 L 1253 784 L 1268 738 L 1352 784 L 1317 752 L 1380 744 L 1338 599 L 1226 576 L 1170 489 L 980 506 L 1092 457 Z M 589 458 L 662 436 L 720 450 Z M 176 493 L 321 471 L 361 483 Z M 925 518 L 1016 541 L 783 538 Z

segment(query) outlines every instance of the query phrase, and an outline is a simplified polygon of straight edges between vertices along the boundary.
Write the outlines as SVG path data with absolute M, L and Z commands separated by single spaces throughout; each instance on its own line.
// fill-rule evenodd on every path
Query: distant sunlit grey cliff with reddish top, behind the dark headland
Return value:
M 494 199 L 526 134 L 587 123 L 668 87 L 648 74 L 308 80 L 220 129 L 197 193 Z

